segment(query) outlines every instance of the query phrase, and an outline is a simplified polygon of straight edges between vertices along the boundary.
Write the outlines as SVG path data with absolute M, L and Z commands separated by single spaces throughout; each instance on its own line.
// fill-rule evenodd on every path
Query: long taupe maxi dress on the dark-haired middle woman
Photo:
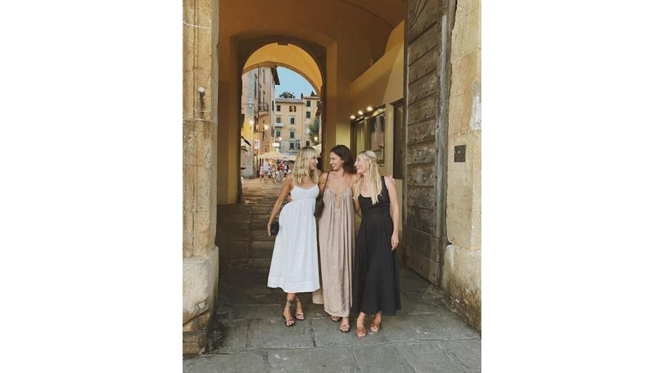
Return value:
M 328 176 L 329 177 L 329 176 Z M 325 207 L 318 220 L 318 245 L 322 287 L 313 293 L 313 303 L 322 303 L 332 316 L 348 317 L 353 299 L 355 256 L 355 206 L 348 187 L 338 195 L 326 187 Z

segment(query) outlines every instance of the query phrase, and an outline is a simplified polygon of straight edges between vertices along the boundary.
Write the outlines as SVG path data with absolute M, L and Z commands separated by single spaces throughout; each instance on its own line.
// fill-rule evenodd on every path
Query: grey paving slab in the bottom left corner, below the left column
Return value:
M 237 373 L 268 372 L 264 357 L 256 352 L 240 352 L 230 355 L 208 355 L 186 359 L 183 373 Z

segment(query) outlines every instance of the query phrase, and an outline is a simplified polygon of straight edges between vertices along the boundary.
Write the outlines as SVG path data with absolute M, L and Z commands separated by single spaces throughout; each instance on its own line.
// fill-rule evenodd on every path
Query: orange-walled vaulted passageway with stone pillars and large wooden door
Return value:
M 232 209 L 251 202 L 239 202 L 241 75 L 270 62 L 296 68 L 320 88 L 324 171 L 335 144 L 353 153 L 378 150 L 380 173 L 396 178 L 406 267 L 442 289 L 445 304 L 481 330 L 480 3 L 313 0 L 305 8 L 289 0 L 184 1 L 185 354 L 205 350 L 225 266 L 268 264 L 261 255 L 269 244 L 259 244 L 266 241 L 215 238 L 222 222 L 238 224 L 233 233 L 247 239 L 262 234 L 254 233 L 259 220 L 240 227 L 241 214 Z M 290 46 L 315 61 L 320 84 L 306 67 L 293 66 L 295 59 L 270 57 Z M 249 244 L 247 257 L 229 258 L 238 242 Z

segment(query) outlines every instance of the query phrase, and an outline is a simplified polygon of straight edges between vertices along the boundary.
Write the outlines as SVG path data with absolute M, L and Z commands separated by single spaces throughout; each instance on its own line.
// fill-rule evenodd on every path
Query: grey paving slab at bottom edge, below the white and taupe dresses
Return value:
M 348 348 L 271 350 L 270 372 L 360 372 L 353 351 Z

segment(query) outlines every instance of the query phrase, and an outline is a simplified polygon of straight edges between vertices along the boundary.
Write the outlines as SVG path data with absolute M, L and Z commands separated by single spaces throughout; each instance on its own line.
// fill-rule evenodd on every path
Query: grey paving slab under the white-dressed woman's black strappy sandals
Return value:
M 247 348 L 313 347 L 311 321 L 295 321 L 292 327 L 285 323 L 283 318 L 249 321 Z

